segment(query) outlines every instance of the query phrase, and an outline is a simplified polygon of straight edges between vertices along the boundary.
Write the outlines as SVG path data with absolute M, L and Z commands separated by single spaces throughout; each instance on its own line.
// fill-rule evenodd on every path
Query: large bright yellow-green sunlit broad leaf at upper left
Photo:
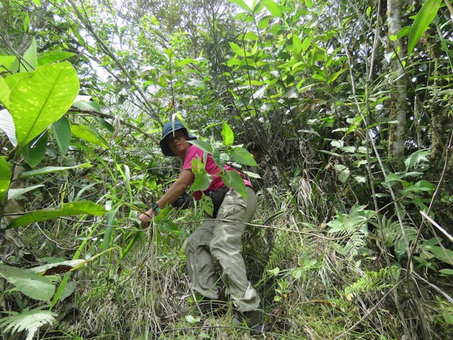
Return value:
M 39 67 L 11 88 L 9 109 L 23 147 L 66 113 L 79 93 L 79 79 L 69 62 Z

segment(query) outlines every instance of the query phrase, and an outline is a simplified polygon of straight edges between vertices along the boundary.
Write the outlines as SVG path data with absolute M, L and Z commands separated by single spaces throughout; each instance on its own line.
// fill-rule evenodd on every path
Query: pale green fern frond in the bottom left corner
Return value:
M 25 309 L 21 313 L 9 312 L 11 316 L 0 319 L 2 333 L 11 332 L 15 334 L 20 331 L 27 331 L 27 339 L 32 340 L 38 329 L 45 324 L 53 324 L 57 314 L 50 310 Z

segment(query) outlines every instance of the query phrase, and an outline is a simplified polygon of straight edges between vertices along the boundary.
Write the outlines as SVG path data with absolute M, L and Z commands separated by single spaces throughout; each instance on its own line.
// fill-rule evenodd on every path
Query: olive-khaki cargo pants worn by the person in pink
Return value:
M 256 196 L 247 187 L 247 200 L 234 190 L 228 191 L 216 220 L 207 220 L 185 243 L 185 261 L 193 288 L 211 299 L 219 297 L 219 278 L 214 261 L 219 261 L 229 279 L 229 292 L 240 312 L 258 309 L 260 297 L 247 279 L 242 257 L 242 234 L 256 210 Z M 233 220 L 237 222 L 224 222 Z

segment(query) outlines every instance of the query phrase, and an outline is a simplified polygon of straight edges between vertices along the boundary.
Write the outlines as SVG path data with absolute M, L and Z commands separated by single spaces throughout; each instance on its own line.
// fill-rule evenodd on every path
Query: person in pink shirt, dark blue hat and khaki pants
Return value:
M 246 223 L 250 222 L 256 210 L 256 195 L 250 181 L 243 179 L 246 185 L 246 198 L 234 188 L 227 188 L 219 176 L 222 169 L 214 162 L 212 154 L 205 156 L 202 149 L 190 144 L 196 137 L 190 135 L 179 121 L 168 122 L 162 130 L 160 141 L 162 152 L 166 156 L 182 160 L 178 179 L 168 188 L 150 210 L 139 216 L 146 227 L 153 215 L 161 208 L 174 203 L 190 187 L 195 179 L 192 171 L 194 159 L 204 162 L 205 169 L 212 176 L 210 186 L 203 192 L 194 191 L 195 200 L 202 195 L 212 198 L 214 213 L 212 218 L 202 222 L 200 227 L 185 242 L 185 259 L 188 275 L 193 289 L 202 296 L 199 307 L 202 312 L 213 312 L 222 307 L 221 280 L 214 268 L 214 261 L 222 267 L 229 295 L 235 311 L 246 320 L 248 327 L 256 334 L 269 329 L 264 322 L 263 310 L 260 309 L 260 297 L 247 278 L 246 266 L 242 257 L 242 235 Z M 226 170 L 235 170 L 225 164 Z M 237 171 L 243 178 L 243 174 Z

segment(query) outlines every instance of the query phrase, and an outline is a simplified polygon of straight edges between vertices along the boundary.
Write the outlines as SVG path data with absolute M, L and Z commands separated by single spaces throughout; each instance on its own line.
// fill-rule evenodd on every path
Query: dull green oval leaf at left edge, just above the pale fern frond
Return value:
M 0 276 L 35 300 L 49 301 L 55 292 L 55 285 L 48 278 L 43 278 L 29 269 L 0 266 Z

